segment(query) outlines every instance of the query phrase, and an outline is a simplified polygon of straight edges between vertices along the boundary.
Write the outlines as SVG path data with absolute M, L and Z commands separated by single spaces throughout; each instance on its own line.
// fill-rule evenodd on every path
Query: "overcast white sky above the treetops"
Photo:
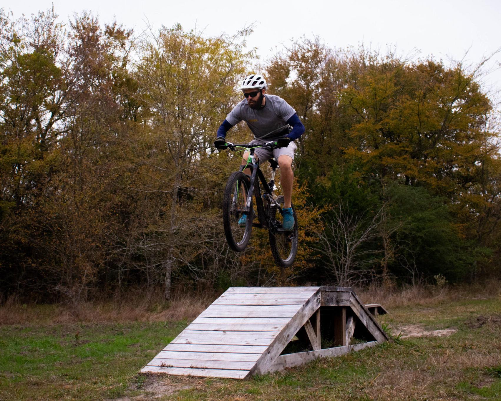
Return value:
M 203 29 L 207 36 L 234 34 L 255 23 L 247 45 L 258 48 L 262 60 L 275 48 L 289 45 L 291 38 L 303 35 L 318 35 L 331 48 L 363 42 L 382 51 L 396 46 L 399 55 L 418 49 L 421 57 L 433 54 L 444 61 L 461 59 L 469 49 L 466 60 L 471 64 L 501 47 L 499 0 L 18 0 L 3 7 L 20 17 L 50 8 L 53 3 L 62 21 L 85 9 L 98 14 L 102 23 L 116 18 L 136 32 L 144 29 L 146 19 L 156 28 L 180 23 L 187 30 Z M 498 54 L 487 66 L 498 68 L 500 62 Z M 485 89 L 501 89 L 501 70 L 491 72 L 485 85 Z

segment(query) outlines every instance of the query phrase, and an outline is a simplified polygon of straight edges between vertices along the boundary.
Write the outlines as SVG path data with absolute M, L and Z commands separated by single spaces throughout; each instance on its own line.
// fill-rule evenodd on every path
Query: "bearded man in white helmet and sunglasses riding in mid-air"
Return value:
M 227 147 L 225 145 L 226 132 L 242 120 L 247 123 L 247 126 L 254 134 L 254 140 L 250 143 L 255 145 L 264 145 L 269 141 L 276 141 L 278 143 L 279 148 L 273 151 L 256 148 L 255 156 L 259 163 L 265 162 L 272 157 L 275 157 L 277 160 L 281 171 L 280 183 L 284 191 L 283 228 L 284 230 L 292 230 L 294 227 L 291 204 L 294 181 L 292 162 L 294 160 L 294 151 L 297 147 L 293 141 L 305 132 L 305 126 L 300 121 L 296 110 L 284 99 L 275 95 L 265 96 L 267 89 L 268 85 L 262 75 L 252 74 L 242 81 L 240 90 L 243 91 L 245 99 L 229 112 L 226 119 L 219 126 L 214 146 L 217 149 L 225 149 Z M 263 138 L 266 133 L 286 124 L 292 126 L 291 132 L 286 131 L 278 133 L 274 137 Z M 247 164 L 248 155 L 249 152 L 243 154 L 242 165 Z M 250 175 L 249 168 L 243 171 L 245 174 Z M 238 224 L 245 226 L 246 219 L 247 216 L 243 214 Z

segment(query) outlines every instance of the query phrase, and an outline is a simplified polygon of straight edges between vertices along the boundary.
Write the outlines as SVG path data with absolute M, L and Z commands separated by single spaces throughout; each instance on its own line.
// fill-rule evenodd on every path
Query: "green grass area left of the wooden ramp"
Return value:
M 185 322 L 2 326 L 0 399 L 119 396 L 131 380 L 138 380 L 133 379 L 138 368 L 184 326 Z

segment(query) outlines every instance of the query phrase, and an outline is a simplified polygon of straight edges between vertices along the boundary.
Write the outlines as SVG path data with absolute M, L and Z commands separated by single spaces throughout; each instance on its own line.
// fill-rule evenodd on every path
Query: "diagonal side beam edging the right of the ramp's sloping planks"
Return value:
M 273 340 L 256 365 L 250 369 L 250 374 L 266 373 L 269 371 L 277 356 L 286 347 L 298 330 L 320 308 L 320 292 L 313 295 L 300 310 L 293 316 L 291 321 L 284 327 L 280 334 Z

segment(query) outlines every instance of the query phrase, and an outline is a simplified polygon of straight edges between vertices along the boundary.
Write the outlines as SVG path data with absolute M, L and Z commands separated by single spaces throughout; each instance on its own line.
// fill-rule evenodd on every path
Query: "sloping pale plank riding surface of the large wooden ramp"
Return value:
M 228 289 L 142 371 L 244 377 L 250 368 L 263 359 L 263 354 L 269 352 L 270 344 L 277 342 L 277 337 L 290 324 L 291 318 L 294 320 L 298 313 L 303 315 L 298 311 L 302 311 L 304 305 L 312 300 L 317 309 L 320 305 L 318 287 L 275 287 L 266 288 L 266 292 L 263 290 Z M 299 327 L 301 325 L 295 327 L 296 331 Z M 311 324 L 310 328 L 314 332 Z M 289 333 L 289 339 L 282 341 L 283 347 L 293 335 Z M 317 341 L 315 332 L 313 338 Z M 278 355 L 283 347 L 274 353 Z M 244 374 L 235 373 L 238 370 Z

